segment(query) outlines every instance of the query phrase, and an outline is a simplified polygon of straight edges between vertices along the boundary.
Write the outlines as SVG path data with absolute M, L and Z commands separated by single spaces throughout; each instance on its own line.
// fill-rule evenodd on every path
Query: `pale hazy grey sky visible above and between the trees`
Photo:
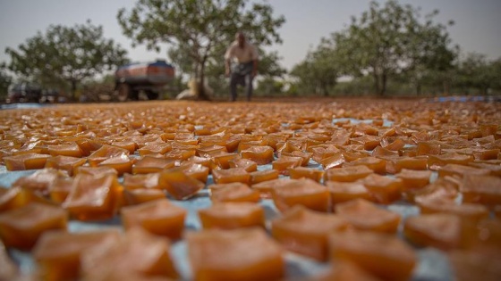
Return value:
M 105 37 L 113 38 L 129 51 L 134 62 L 166 58 L 161 53 L 147 51 L 144 46 L 132 48 L 116 21 L 117 11 L 132 8 L 136 0 L 0 0 L 0 62 L 8 61 L 5 47 L 17 48 L 28 37 L 44 32 L 50 24 L 72 26 L 90 19 L 102 25 Z M 384 1 L 380 1 L 384 2 Z M 359 16 L 369 7 L 369 0 L 268 0 L 275 15 L 282 14 L 286 22 L 279 32 L 284 40 L 274 45 L 282 57 L 282 65 L 290 70 L 301 62 L 321 37 L 344 29 L 352 15 Z M 454 44 L 463 52 L 486 54 L 489 59 L 501 57 L 501 0 L 400 0 L 402 4 L 420 6 L 422 13 L 440 11 L 436 21 L 455 21 L 449 33 Z

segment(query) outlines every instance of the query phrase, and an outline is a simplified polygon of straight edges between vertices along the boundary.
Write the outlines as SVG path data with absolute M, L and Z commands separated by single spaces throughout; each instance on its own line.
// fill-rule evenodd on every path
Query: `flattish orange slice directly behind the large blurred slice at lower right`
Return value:
M 401 219 L 399 214 L 378 208 L 376 204 L 364 199 L 338 203 L 335 205 L 335 213 L 357 229 L 385 233 L 395 233 Z

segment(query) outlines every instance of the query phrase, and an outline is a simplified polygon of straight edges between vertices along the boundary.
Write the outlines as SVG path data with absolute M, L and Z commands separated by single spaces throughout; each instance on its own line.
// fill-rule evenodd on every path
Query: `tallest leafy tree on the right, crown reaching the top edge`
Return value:
M 376 93 L 385 95 L 388 79 L 402 72 L 413 71 L 418 81 L 423 70 L 449 69 L 454 50 L 446 26 L 433 22 L 437 13 L 422 22 L 420 9 L 412 5 L 390 0 L 381 7 L 372 1 L 369 11 L 352 17 L 347 29 L 333 34 L 346 74 L 371 75 Z

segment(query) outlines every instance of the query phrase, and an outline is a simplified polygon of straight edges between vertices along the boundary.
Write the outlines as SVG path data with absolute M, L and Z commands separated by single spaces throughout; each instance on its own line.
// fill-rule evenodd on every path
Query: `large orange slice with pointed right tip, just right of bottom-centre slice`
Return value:
M 287 250 L 326 261 L 328 235 L 344 231 L 348 226 L 349 223 L 337 215 L 310 211 L 296 205 L 272 221 L 271 234 Z

